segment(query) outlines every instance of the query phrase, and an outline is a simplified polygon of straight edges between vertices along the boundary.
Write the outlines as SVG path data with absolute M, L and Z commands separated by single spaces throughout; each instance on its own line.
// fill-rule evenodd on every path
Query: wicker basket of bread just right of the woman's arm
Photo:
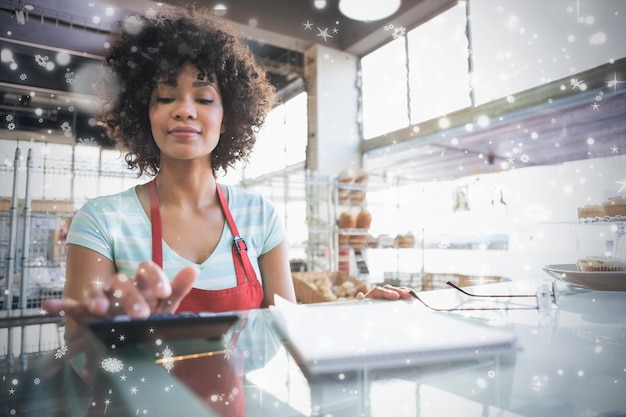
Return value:
M 337 297 L 315 287 L 314 281 L 327 277 L 331 285 L 342 285 L 351 282 L 356 291 L 367 292 L 368 285 L 343 272 L 293 272 L 293 285 L 296 290 L 296 301 L 302 304 L 323 303 L 328 301 L 346 300 L 352 297 Z

